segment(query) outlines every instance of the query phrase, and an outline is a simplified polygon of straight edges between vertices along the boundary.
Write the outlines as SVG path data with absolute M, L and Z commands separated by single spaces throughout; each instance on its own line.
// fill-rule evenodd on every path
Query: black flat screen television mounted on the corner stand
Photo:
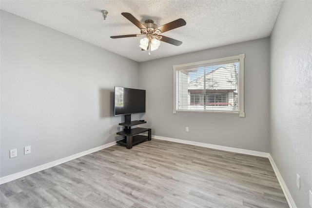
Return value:
M 115 116 L 145 113 L 145 90 L 115 86 Z

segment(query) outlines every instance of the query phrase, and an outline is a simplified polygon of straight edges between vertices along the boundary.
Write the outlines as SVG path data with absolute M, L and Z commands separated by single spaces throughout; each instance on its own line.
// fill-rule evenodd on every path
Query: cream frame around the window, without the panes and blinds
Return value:
M 237 56 L 230 56 L 225 58 L 219 58 L 219 59 L 213 59 L 213 60 L 207 60 L 207 61 L 201 61 L 201 62 L 192 62 L 192 63 L 183 63 L 183 64 L 177 64 L 173 65 L 173 72 L 174 72 L 174 108 L 173 113 L 176 114 L 176 112 L 196 112 L 196 113 L 224 113 L 224 114 L 238 114 L 239 117 L 245 117 L 245 111 L 244 111 L 244 59 L 245 54 L 240 54 Z M 225 62 L 233 62 L 237 61 L 239 63 L 239 69 L 238 69 L 238 94 L 239 94 L 239 111 L 238 112 L 227 112 L 227 111 L 216 111 L 216 110 L 177 110 L 176 109 L 176 71 L 183 70 L 186 68 L 194 68 L 196 66 L 200 65 L 218 65 L 220 63 Z

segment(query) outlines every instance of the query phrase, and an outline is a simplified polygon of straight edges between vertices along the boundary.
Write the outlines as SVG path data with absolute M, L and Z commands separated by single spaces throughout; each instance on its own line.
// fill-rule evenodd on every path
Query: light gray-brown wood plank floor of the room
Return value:
M 289 208 L 267 158 L 152 139 L 0 186 L 1 208 Z

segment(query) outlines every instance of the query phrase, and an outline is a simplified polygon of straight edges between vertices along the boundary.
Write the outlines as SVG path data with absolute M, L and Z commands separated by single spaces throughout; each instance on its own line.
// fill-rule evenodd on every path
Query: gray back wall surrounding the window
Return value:
M 215 113 L 173 114 L 174 64 L 243 53 L 246 55 L 245 118 Z M 147 112 L 143 118 L 156 136 L 269 152 L 269 64 L 269 38 L 141 62 L 140 86 L 147 90 Z M 189 132 L 185 131 L 186 126 Z

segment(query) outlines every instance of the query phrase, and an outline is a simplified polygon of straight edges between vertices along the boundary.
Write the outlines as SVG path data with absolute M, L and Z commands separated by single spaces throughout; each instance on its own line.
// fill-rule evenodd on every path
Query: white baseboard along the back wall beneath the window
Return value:
M 145 134 L 145 135 L 147 136 L 147 134 Z M 169 138 L 169 137 L 161 137 L 161 136 L 156 136 L 156 135 L 152 135 L 152 138 L 164 140 L 164 141 L 168 141 L 168 142 L 176 142 L 176 143 L 181 143 L 181 144 L 186 144 L 186 145 L 202 146 L 202 147 L 207 147 L 207 148 L 212 148 L 212 149 L 224 150 L 224 151 L 228 151 L 228 152 L 254 155 L 254 156 L 258 156 L 258 157 L 268 158 L 270 155 L 270 153 L 267 153 L 267 152 L 259 152 L 259 151 L 240 149 L 240 148 L 234 148 L 234 147 L 229 147 L 229 146 L 212 145 L 212 144 L 207 144 L 207 143 L 193 142 L 193 141 L 174 139 L 174 138 Z

